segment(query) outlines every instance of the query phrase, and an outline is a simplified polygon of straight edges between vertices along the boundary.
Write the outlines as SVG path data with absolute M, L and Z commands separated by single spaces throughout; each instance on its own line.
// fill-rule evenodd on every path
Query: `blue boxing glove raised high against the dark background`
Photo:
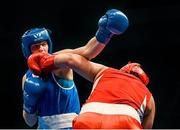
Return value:
M 96 39 L 100 43 L 107 44 L 111 37 L 122 34 L 129 26 L 128 18 L 117 9 L 111 9 L 99 19 Z

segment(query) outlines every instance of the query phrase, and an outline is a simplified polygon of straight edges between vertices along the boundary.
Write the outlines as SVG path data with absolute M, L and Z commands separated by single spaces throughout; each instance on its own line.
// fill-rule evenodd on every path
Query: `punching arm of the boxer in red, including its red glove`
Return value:
M 40 59 L 39 64 L 36 64 L 36 59 Z M 66 66 L 68 66 L 89 81 L 93 81 L 96 74 L 100 70 L 106 68 L 101 64 L 90 62 L 86 58 L 72 53 L 64 53 L 58 55 L 51 55 L 48 53 L 36 53 L 32 54 L 28 58 L 28 63 L 30 64 L 29 68 L 33 70 L 36 74 L 40 74 L 42 71 L 48 73 L 55 68 L 65 68 Z M 40 69 L 37 70 L 36 68 Z

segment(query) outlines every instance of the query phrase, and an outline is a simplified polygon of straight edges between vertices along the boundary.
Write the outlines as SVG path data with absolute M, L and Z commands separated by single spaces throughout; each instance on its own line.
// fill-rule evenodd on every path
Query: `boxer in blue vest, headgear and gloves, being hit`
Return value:
M 98 22 L 95 37 L 77 49 L 65 49 L 53 53 L 79 54 L 85 58 L 96 57 L 113 35 L 120 35 L 128 27 L 127 17 L 119 10 L 111 9 Z M 26 59 L 35 53 L 52 53 L 52 42 L 46 28 L 34 28 L 22 36 L 22 50 Z M 38 59 L 37 59 L 38 60 Z M 28 63 L 33 66 L 34 63 Z M 80 103 L 73 72 L 68 67 L 55 68 L 51 73 L 41 69 L 28 70 L 22 79 L 23 117 L 29 126 L 38 120 L 40 129 L 72 128 L 72 120 L 80 112 Z

